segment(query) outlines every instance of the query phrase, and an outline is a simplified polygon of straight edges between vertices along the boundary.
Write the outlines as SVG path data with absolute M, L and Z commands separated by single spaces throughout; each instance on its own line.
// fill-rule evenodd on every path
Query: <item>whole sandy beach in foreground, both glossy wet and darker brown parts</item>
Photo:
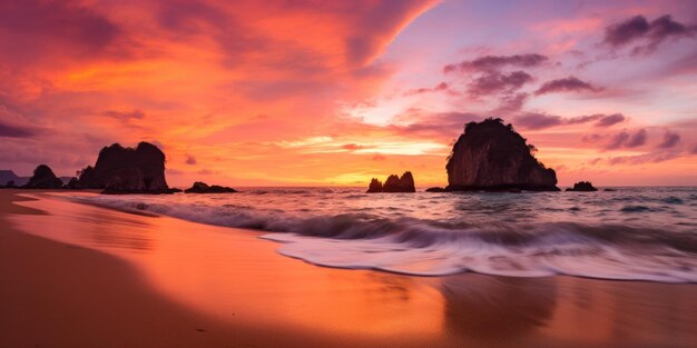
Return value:
M 697 346 L 696 285 L 332 269 L 20 192 L 0 190 L 0 347 Z

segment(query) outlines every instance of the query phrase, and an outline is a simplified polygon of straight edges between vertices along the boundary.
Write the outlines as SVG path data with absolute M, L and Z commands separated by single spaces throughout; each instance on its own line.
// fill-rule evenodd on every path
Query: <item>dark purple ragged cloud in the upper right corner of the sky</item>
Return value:
M 669 14 L 661 16 L 650 23 L 644 16 L 635 16 L 607 27 L 602 42 L 612 48 L 621 48 L 640 41 L 642 44 L 635 47 L 632 53 L 648 53 L 668 39 L 695 37 L 697 27 L 674 21 Z

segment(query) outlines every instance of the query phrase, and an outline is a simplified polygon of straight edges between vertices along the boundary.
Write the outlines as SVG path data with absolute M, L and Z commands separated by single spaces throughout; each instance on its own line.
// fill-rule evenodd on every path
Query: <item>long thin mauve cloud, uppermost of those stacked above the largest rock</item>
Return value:
M 491 71 L 504 67 L 534 68 L 549 59 L 542 54 L 484 56 L 443 67 L 443 72 Z

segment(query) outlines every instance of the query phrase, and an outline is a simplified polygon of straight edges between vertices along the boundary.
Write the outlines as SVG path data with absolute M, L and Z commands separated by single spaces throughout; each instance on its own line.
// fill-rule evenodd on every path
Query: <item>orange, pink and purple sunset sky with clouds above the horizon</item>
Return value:
M 561 186 L 697 185 L 697 2 L 0 2 L 20 176 L 150 141 L 170 186 L 443 186 L 488 117 Z

